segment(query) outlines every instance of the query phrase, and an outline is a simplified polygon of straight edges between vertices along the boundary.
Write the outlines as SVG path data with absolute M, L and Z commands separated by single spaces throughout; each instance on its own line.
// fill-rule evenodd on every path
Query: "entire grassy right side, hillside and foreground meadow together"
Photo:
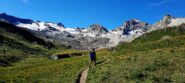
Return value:
M 90 70 L 88 83 L 185 82 L 185 28 L 147 33 L 117 46 L 109 58 Z

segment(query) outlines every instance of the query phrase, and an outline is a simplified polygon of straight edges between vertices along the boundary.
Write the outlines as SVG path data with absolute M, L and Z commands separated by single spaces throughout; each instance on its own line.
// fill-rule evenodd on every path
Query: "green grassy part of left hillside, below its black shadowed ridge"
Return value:
M 44 46 L 34 44 L 24 39 L 20 34 L 6 31 L 10 29 L 11 25 L 3 26 L 2 23 L 0 23 L 0 25 L 0 66 L 9 66 L 11 63 L 27 56 L 46 55 L 48 53 L 47 48 Z

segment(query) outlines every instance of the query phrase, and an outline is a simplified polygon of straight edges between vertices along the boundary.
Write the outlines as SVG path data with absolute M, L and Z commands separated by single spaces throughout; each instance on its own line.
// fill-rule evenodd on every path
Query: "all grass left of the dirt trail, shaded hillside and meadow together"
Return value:
M 10 31 L 6 31 L 7 28 Z M 87 51 L 69 50 L 62 45 L 48 50 L 43 45 L 25 39 L 22 34 L 11 31 L 11 28 L 17 27 L 7 24 L 0 26 L 0 82 L 75 82 L 79 72 L 87 68 L 89 64 L 87 54 L 50 60 L 48 56 L 52 54 Z M 101 52 L 98 55 L 103 54 Z M 98 56 L 98 58 L 100 62 L 104 61 L 103 56 Z

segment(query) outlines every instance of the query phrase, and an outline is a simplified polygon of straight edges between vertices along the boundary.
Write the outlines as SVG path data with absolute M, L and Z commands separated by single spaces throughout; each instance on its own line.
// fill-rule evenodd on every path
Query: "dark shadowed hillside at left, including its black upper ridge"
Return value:
M 47 49 L 54 47 L 54 44 L 6 22 L 0 22 L 0 39 L 0 66 L 9 66 L 29 55 L 47 55 Z

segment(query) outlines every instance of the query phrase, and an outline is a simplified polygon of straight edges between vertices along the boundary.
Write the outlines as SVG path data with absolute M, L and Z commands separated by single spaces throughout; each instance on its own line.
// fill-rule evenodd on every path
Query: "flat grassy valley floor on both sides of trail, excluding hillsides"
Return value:
M 97 66 L 89 69 L 87 83 L 185 82 L 185 47 L 120 56 L 104 49 L 97 52 L 97 57 Z M 29 57 L 13 66 L 0 67 L 0 82 L 76 82 L 88 64 L 88 55 L 59 60 Z

